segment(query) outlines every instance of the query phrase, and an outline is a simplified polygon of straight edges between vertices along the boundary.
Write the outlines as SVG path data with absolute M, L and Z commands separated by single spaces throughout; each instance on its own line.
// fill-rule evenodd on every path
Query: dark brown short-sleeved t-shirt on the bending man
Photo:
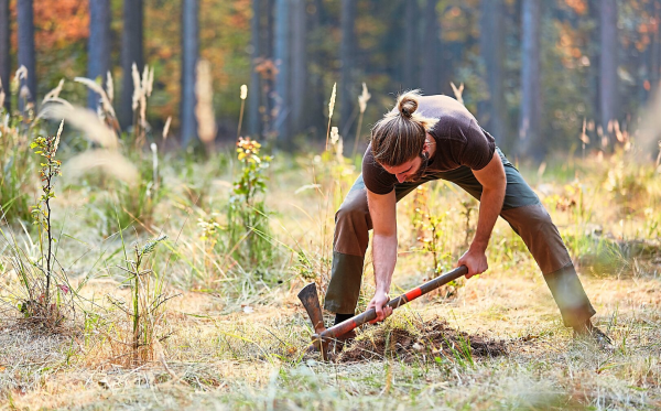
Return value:
M 481 170 L 489 164 L 496 141 L 479 127 L 464 105 L 447 96 L 421 96 L 418 102 L 416 112 L 438 119 L 430 130 L 436 140 L 436 152 L 425 174 L 451 171 L 462 165 Z M 376 194 L 390 193 L 398 182 L 394 174 L 388 173 L 375 161 L 371 144 L 362 158 L 362 180 L 365 186 Z

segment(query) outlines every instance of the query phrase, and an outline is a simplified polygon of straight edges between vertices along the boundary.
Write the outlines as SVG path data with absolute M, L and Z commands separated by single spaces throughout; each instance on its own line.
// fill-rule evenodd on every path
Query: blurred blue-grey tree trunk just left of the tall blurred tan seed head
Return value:
M 197 139 L 195 82 L 198 58 L 199 3 L 198 0 L 184 0 L 182 2 L 182 98 L 180 100 L 183 147 Z

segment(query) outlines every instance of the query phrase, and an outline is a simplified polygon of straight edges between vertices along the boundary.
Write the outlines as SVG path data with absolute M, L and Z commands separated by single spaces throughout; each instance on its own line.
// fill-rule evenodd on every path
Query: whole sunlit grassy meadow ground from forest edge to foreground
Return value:
M 7 307 L 0 407 L 659 409 L 661 179 L 629 155 L 522 169 L 579 267 L 596 321 L 615 342 L 613 351 L 572 338 L 522 241 L 499 220 L 487 273 L 422 298 L 386 324 L 362 328 L 355 345 L 365 355 L 327 364 L 305 351 L 311 324 L 296 293 L 311 280 L 322 290 L 328 281 L 333 213 L 357 175 L 353 162 L 275 154 L 266 171 L 269 230 L 258 232 L 267 240 L 261 246 L 248 236 L 229 240 L 227 203 L 240 175 L 234 154 L 205 162 L 164 156 L 163 195 L 121 238 L 108 228 L 111 191 L 99 188 L 104 181 L 74 181 L 65 170 L 53 225 L 61 232 L 57 259 L 73 289 L 83 285 L 76 303 L 83 314 L 59 333 L 26 325 L 15 310 L 21 286 L 11 249 L 34 256 L 39 245 L 25 234 L 30 229 L 4 224 L 4 238 L 17 241 L 6 241 L 0 257 Z M 393 294 L 429 279 L 434 267 L 452 268 L 472 238 L 476 207 L 443 183 L 400 203 Z M 150 264 L 163 285 L 159 293 L 173 298 L 153 322 L 158 343 L 149 347 L 149 358 L 131 361 L 130 318 L 121 304 L 131 301 L 133 289 L 116 266 L 129 259 L 122 250 L 131 251 L 132 241 L 160 234 L 169 239 Z M 250 247 L 261 250 L 250 255 Z M 373 291 L 369 258 L 362 289 L 359 310 Z M 468 339 L 501 343 L 506 353 L 443 347 L 429 338 L 438 321 Z

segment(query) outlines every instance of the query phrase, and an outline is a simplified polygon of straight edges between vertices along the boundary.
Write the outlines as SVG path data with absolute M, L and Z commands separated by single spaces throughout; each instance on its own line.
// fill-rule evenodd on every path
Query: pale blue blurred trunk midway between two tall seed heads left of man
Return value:
M 278 140 L 283 147 L 289 147 L 291 143 L 289 127 L 292 110 L 290 101 L 290 2 L 291 0 L 275 0 L 275 35 L 273 39 L 279 71 L 275 76 L 277 116 L 274 126 Z

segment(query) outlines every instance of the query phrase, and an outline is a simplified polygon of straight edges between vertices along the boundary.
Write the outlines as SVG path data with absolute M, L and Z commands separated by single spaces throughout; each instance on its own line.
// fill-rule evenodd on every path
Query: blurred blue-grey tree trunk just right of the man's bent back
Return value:
M 485 65 L 489 98 L 478 104 L 483 127 L 494 134 L 496 142 L 506 140 L 506 104 L 503 83 L 505 4 L 502 0 L 481 0 L 479 48 Z

